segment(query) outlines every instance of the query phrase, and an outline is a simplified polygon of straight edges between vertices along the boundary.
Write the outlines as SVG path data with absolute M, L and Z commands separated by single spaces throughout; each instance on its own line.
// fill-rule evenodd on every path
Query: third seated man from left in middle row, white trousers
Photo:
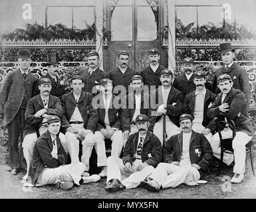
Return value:
M 121 115 L 120 98 L 112 94 L 112 81 L 111 79 L 100 80 L 100 94 L 98 98 L 98 125 L 95 132 L 95 139 L 97 146 L 105 144 L 104 139 L 112 140 L 111 156 L 119 157 L 122 152 L 123 138 L 121 131 Z M 104 166 L 100 172 L 103 178 L 106 176 L 106 153 L 104 154 Z

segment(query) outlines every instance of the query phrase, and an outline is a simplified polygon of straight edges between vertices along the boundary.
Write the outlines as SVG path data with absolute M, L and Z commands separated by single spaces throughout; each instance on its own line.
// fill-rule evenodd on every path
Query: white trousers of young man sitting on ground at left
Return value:
M 59 182 L 74 182 L 79 185 L 85 165 L 81 162 L 59 166 L 58 168 L 45 168 L 37 180 L 37 186 L 57 184 Z

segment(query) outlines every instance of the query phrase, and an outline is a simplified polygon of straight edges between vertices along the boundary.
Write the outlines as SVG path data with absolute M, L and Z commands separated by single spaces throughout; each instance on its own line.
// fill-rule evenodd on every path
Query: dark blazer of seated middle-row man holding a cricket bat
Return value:
M 156 89 L 156 91 L 153 91 L 151 93 L 150 101 L 151 101 L 152 110 L 154 110 L 156 114 L 156 110 L 158 106 L 164 104 L 161 87 L 159 87 L 158 89 Z M 180 127 L 179 119 L 180 119 L 180 115 L 182 115 L 183 102 L 184 102 L 183 93 L 172 86 L 167 99 L 166 115 L 168 115 L 169 119 L 178 127 Z M 173 103 L 176 103 L 176 105 L 172 105 Z M 158 122 L 161 117 L 162 116 L 155 116 L 155 119 L 154 119 L 155 123 Z

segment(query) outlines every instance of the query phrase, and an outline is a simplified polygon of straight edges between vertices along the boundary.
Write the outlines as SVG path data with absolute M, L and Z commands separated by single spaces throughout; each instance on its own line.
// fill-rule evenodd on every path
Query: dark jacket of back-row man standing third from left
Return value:
M 100 70 L 100 68 L 97 68 L 91 75 L 88 73 L 88 68 L 82 68 L 78 72 L 78 75 L 82 77 L 82 81 L 84 82 L 82 90 L 89 93 L 92 93 L 92 87 L 94 85 L 99 85 L 101 79 L 109 78 L 108 73 Z M 92 94 L 96 95 L 96 92 Z

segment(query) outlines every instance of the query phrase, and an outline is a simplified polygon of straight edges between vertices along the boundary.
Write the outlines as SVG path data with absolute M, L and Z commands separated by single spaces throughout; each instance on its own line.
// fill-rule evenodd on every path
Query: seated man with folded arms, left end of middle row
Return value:
M 49 78 L 39 80 L 39 95 L 29 99 L 25 111 L 26 126 L 24 131 L 23 154 L 27 162 L 27 174 L 23 180 L 27 180 L 29 174 L 29 165 L 31 164 L 35 142 L 41 134 L 47 131 L 47 117 L 50 115 L 63 115 L 61 100 L 51 95 L 52 81 Z M 64 134 L 60 133 L 59 137 L 67 152 L 66 139 Z

